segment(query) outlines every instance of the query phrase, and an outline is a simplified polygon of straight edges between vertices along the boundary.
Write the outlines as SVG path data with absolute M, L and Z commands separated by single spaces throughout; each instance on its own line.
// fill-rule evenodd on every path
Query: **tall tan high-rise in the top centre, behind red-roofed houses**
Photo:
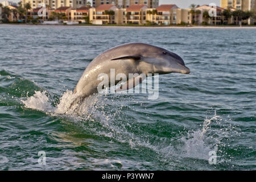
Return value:
M 146 5 L 148 8 L 156 8 L 159 0 L 92 0 L 92 6 L 115 5 L 118 8 L 127 8 L 131 5 Z

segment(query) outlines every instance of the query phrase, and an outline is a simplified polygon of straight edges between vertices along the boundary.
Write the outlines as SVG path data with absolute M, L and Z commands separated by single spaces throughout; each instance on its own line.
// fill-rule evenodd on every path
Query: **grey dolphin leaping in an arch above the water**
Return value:
M 183 59 L 173 52 L 150 44 L 127 43 L 111 48 L 93 59 L 77 82 L 73 93 L 81 98 L 97 93 L 97 86 L 101 82 L 97 79 L 98 75 L 106 73 L 110 78 L 110 69 L 115 69 L 115 76 L 125 73 L 127 78 L 129 73 L 190 73 Z M 117 83 L 118 81 L 115 82 Z

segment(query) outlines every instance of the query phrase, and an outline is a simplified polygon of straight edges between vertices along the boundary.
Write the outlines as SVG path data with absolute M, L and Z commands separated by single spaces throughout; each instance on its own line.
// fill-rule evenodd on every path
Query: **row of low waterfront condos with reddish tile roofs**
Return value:
M 23 0 L 23 2 L 30 0 Z M 36 1 L 36 0 L 34 0 Z M 48 2 L 49 6 L 53 8 L 47 9 L 46 16 L 39 17 L 38 11 L 40 8 L 35 7 L 36 3 Z M 222 13 L 227 8 L 216 7 L 216 16 L 209 17 L 205 16 L 205 12 L 209 12 L 212 7 L 208 5 L 203 5 L 195 8 L 195 11 L 191 9 L 180 9 L 176 5 L 160 5 L 156 8 L 150 8 L 147 5 L 130 5 L 129 7 L 118 7 L 114 4 L 103 4 L 97 7 L 88 8 L 86 6 L 74 7 L 69 4 L 69 6 L 64 6 L 67 3 L 60 4 L 58 8 L 53 6 L 53 2 L 61 2 L 60 0 L 41 0 L 36 1 L 35 6 L 32 6 L 31 10 L 28 10 L 27 17 L 31 20 L 59 20 L 59 21 L 69 21 L 74 23 L 87 22 L 92 24 L 254 24 L 254 19 L 249 18 L 246 20 L 238 19 L 237 16 L 226 17 Z M 73 2 L 73 1 L 72 1 Z M 77 1 L 79 2 L 79 0 Z M 55 4 L 56 5 L 56 4 Z M 77 3 L 76 3 L 77 5 Z M 8 6 L 9 9 L 16 9 L 16 6 Z M 35 7 L 35 8 L 33 8 Z M 55 7 L 55 8 L 54 8 Z M 1 13 L 2 8 L 0 8 Z M 231 11 L 236 11 L 232 8 Z M 53 13 L 55 12 L 55 13 Z M 194 13 L 192 13 L 194 12 Z M 61 14 L 57 14 L 61 13 Z M 5 16 L 0 16 L 0 19 Z M 11 11 L 9 15 L 10 22 L 16 22 L 18 20 L 24 20 L 24 16 L 19 18 L 18 14 L 14 14 Z

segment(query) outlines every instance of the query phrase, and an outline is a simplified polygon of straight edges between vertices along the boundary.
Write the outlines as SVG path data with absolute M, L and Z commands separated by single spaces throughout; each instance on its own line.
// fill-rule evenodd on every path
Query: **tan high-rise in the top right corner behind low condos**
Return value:
M 255 0 L 220 0 L 222 8 L 233 7 L 243 11 L 256 11 Z

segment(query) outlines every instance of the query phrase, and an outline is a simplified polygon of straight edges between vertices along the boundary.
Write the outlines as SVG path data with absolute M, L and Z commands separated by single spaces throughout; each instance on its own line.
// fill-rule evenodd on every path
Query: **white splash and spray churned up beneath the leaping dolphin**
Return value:
M 154 124 L 139 122 L 129 114 L 132 113 L 129 112 L 132 108 L 125 102 L 117 102 L 118 98 L 110 100 L 108 97 L 96 94 L 86 98 L 82 104 L 68 109 L 75 98 L 72 91 L 67 90 L 60 98 L 59 104 L 53 107 L 44 91 L 35 92 L 33 96 L 27 97 L 27 100 L 22 102 L 31 109 L 42 110 L 59 117 L 68 117 L 69 121 L 82 127 L 88 134 L 128 144 L 131 150 L 150 150 L 144 155 L 150 155 L 153 152 L 158 156 L 157 160 L 160 165 L 163 165 L 163 169 L 179 168 L 184 160 L 202 160 L 204 164 L 208 163 L 210 151 L 216 152 L 221 159 L 218 160 L 218 164 L 229 160 L 220 148 L 225 147 L 222 140 L 230 139 L 235 130 L 229 121 L 224 121 L 216 112 L 213 117 L 204 119 L 201 129 L 181 130 L 176 136 L 160 137 L 147 130 L 154 128 Z

